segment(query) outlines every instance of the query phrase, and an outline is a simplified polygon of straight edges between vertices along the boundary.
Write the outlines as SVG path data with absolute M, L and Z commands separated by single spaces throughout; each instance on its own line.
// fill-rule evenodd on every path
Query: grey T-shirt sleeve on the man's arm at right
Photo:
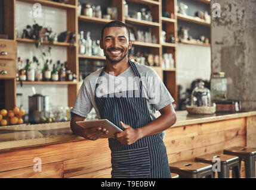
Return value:
M 152 104 L 156 110 L 160 110 L 174 102 L 165 84 L 153 69 L 150 69 L 147 75 L 147 94 L 149 103 Z

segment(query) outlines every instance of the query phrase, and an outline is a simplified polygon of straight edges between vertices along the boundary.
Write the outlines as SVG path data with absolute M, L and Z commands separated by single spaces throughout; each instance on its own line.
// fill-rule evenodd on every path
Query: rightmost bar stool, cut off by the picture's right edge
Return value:
M 245 162 L 245 178 L 255 178 L 256 148 L 232 147 L 225 149 L 223 153 L 238 156 L 240 163 L 242 160 Z

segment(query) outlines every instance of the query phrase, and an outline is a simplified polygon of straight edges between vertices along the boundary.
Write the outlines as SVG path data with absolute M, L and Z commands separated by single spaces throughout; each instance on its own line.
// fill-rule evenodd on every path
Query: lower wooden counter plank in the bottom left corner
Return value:
M 34 163 L 36 164 L 36 163 Z M 62 178 L 63 162 L 42 164 L 41 172 L 34 172 L 33 166 L 0 172 L 0 178 Z

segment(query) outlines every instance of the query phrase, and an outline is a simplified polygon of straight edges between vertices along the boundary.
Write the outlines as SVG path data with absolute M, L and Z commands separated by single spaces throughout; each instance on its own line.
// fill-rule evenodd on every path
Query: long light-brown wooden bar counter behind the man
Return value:
M 164 142 L 171 164 L 233 146 L 256 147 L 255 137 L 256 111 L 178 111 Z M 107 139 L 78 137 L 69 122 L 0 127 L 0 178 L 110 178 L 110 160 Z

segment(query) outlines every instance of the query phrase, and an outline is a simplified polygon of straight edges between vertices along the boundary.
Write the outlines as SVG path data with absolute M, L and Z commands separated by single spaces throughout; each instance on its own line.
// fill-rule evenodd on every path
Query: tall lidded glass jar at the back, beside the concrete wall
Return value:
M 227 100 L 227 78 L 225 72 L 214 72 L 211 79 L 212 100 Z

